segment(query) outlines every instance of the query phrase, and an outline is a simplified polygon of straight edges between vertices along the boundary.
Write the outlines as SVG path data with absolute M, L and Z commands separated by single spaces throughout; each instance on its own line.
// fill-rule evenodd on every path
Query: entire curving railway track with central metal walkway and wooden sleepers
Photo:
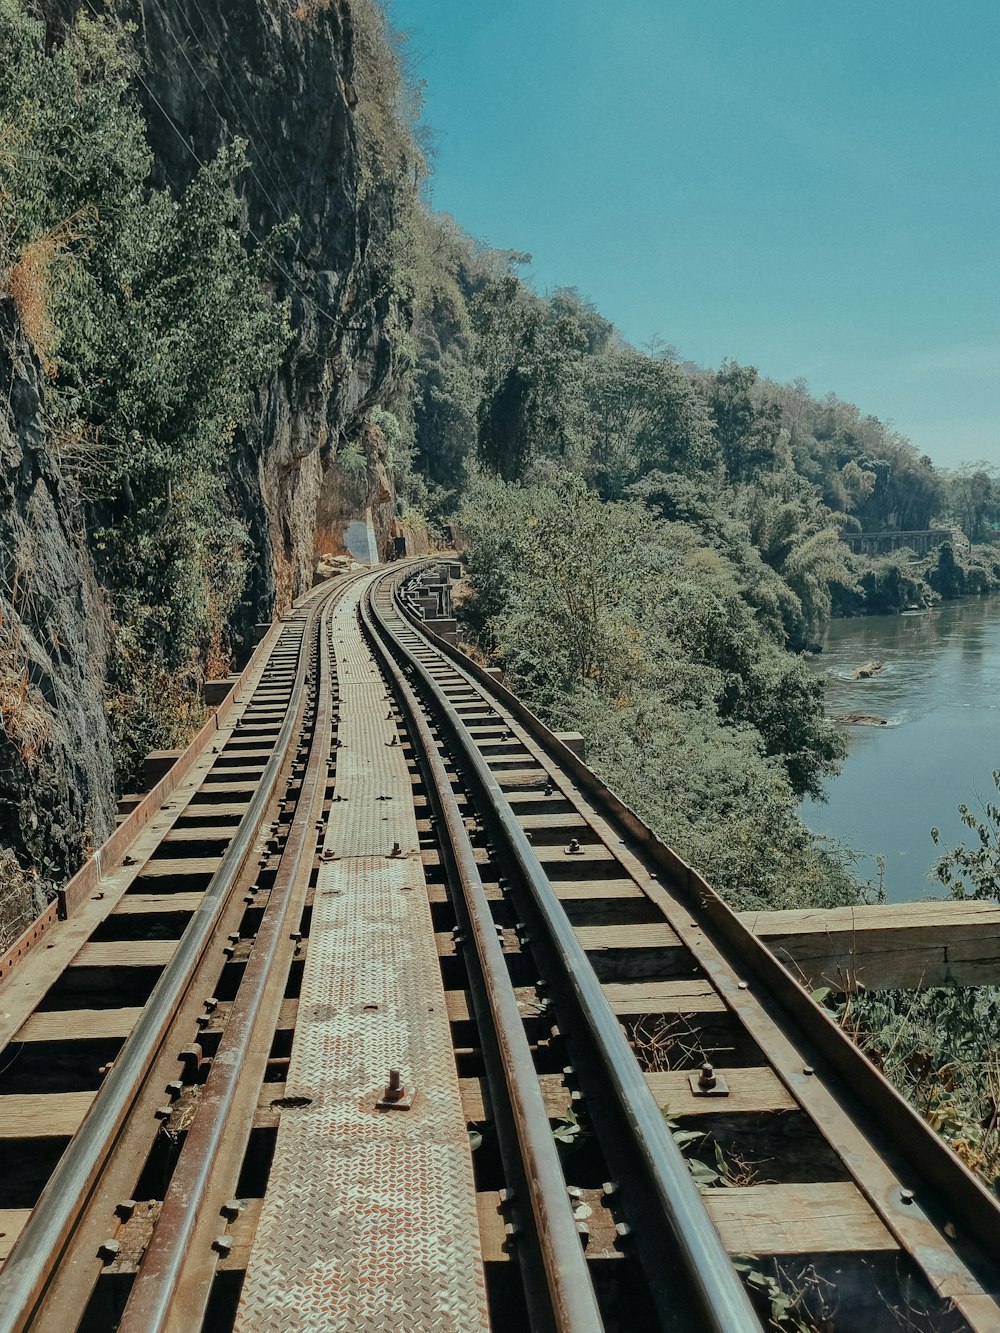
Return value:
M 413 577 L 0 984 L 0 1330 L 1000 1328 L 993 1197 Z

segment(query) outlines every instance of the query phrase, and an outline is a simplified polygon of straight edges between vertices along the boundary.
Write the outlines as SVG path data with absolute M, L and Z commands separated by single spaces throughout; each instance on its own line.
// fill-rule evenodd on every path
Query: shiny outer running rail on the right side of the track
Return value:
M 395 583 L 400 583 L 399 576 L 395 577 Z M 393 588 L 393 596 L 395 593 Z M 581 1020 L 603 1054 L 608 1086 L 631 1129 L 661 1216 L 681 1256 L 684 1273 L 691 1282 L 697 1316 L 701 1320 L 699 1328 L 705 1333 L 760 1333 L 760 1320 L 708 1216 L 688 1165 L 667 1128 L 600 981 L 503 789 L 431 672 L 405 648 L 377 608 L 376 615 L 384 633 L 412 666 L 437 718 L 460 750 L 531 892 L 575 996 Z

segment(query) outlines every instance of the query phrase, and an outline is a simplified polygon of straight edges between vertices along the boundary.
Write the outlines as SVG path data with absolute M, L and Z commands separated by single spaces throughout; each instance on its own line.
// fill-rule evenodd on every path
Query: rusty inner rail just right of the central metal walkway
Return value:
M 597 1333 L 604 1328 L 604 1321 L 576 1229 L 563 1166 L 541 1098 L 531 1046 L 524 1033 L 524 1021 L 496 936 L 496 925 L 465 821 L 420 702 L 392 653 L 379 637 L 371 588 L 363 600 L 360 616 L 369 645 L 392 678 L 411 736 L 420 752 L 421 765 L 431 778 L 428 796 L 439 817 L 439 833 L 445 834 L 443 850 L 449 856 L 459 881 L 464 916 L 481 972 L 483 984 L 472 986 L 473 1006 L 480 1020 L 480 1030 L 492 1033 L 496 1038 L 497 1062 L 523 1164 L 520 1174 L 528 1193 L 535 1240 L 545 1272 L 547 1309 L 537 1309 L 540 1293 L 533 1284 L 525 1282 L 532 1329 L 553 1328 L 557 1333 Z M 469 980 L 472 982 L 472 974 Z M 492 1092 L 493 1097 L 496 1090 Z

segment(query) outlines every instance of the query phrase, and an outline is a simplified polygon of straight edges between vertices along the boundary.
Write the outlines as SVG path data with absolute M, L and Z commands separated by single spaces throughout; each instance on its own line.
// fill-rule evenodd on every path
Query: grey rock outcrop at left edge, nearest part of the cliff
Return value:
M 107 632 L 41 372 L 0 299 L 0 946 L 113 825 Z

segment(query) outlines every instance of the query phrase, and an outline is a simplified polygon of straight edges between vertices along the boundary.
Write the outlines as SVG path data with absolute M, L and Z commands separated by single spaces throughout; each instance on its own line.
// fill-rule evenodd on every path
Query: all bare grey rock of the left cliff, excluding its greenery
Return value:
M 395 387 L 391 331 L 405 323 L 392 279 L 400 181 L 392 168 L 380 173 L 360 141 L 356 23 L 372 0 L 356 4 L 105 5 L 135 25 L 156 184 L 180 192 L 199 163 L 244 139 L 253 167 L 239 188 L 253 236 L 300 219 L 275 280 L 276 297 L 291 301 L 293 340 L 228 460 L 256 551 L 237 639 L 309 585 L 317 516 L 325 505 L 328 517 L 343 485 L 333 460 L 345 443 L 371 463 L 349 503 L 372 507 L 384 537 L 395 507 L 384 443 L 367 416 Z M 55 39 L 80 3 L 39 8 Z M 371 45 L 371 29 L 365 37 Z M 108 635 L 72 488 L 45 436 L 44 377 L 1 304 L 0 948 L 113 824 Z

